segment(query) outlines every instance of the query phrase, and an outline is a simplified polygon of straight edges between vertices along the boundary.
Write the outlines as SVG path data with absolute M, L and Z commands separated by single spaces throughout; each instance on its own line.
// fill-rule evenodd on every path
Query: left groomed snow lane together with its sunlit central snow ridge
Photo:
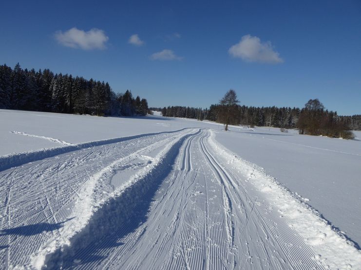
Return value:
M 0 269 L 39 268 L 44 256 L 80 231 L 129 175 L 151 166 L 152 155 L 191 132 L 140 136 L 1 171 Z M 108 181 L 114 174 L 116 181 Z

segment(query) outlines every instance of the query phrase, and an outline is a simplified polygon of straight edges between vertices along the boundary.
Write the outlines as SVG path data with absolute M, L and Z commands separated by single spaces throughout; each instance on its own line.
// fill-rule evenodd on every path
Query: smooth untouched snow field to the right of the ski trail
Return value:
M 231 127 L 227 136 L 217 133 L 217 139 L 361 243 L 361 141 L 252 130 Z M 361 138 L 361 132 L 355 134 Z

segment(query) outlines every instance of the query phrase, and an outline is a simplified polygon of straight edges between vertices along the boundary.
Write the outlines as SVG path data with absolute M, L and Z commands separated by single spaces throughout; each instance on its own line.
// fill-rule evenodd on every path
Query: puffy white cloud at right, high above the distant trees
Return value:
M 283 63 L 283 59 L 277 51 L 273 50 L 270 41 L 261 43 L 257 36 L 249 34 L 242 36 L 239 43 L 229 48 L 228 53 L 233 57 L 240 57 L 248 62 L 260 62 L 268 64 Z

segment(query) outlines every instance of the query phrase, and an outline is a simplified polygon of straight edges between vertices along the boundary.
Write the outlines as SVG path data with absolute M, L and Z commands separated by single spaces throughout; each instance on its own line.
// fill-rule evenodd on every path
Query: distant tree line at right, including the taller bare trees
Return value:
M 185 106 L 153 108 L 163 116 L 208 119 L 215 122 L 253 126 L 269 126 L 284 129 L 297 128 L 300 134 L 325 135 L 330 137 L 352 138 L 350 130 L 361 130 L 361 116 L 338 116 L 337 112 L 328 111 L 318 100 L 309 100 L 305 107 L 253 107 L 238 105 L 236 93 L 229 90 L 218 104 L 209 109 Z

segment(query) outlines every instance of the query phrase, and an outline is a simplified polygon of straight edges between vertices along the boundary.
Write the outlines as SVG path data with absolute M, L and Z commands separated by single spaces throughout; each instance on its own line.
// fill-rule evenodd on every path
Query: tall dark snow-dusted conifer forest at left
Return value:
M 14 69 L 0 66 L 0 108 L 42 112 L 145 116 L 146 99 L 135 99 L 132 92 L 115 94 L 108 83 L 86 80 L 49 69 Z

